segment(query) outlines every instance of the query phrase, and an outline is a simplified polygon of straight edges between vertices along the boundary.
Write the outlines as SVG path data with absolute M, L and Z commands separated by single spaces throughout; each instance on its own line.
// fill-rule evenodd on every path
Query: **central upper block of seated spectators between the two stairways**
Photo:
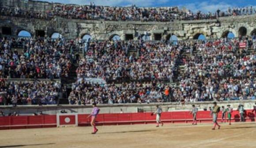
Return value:
M 172 79 L 181 49 L 141 40 L 91 42 L 76 72 L 78 79 Z M 139 51 L 139 56 L 128 56 L 129 50 Z

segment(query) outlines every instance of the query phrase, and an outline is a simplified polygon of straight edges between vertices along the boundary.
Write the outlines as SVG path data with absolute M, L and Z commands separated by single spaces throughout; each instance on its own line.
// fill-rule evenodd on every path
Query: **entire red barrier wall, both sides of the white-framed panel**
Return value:
M 222 113 L 219 113 L 218 119 Z M 90 126 L 90 119 L 86 114 L 78 115 L 79 126 Z M 255 114 L 252 110 L 245 113 L 247 122 L 255 121 Z M 163 112 L 161 119 L 165 123 L 191 123 L 192 115 L 189 112 Z M 198 122 L 211 123 L 212 119 L 209 111 L 200 111 L 197 114 Z M 238 111 L 232 113 L 232 122 L 239 122 L 240 115 Z M 150 112 L 139 113 L 119 113 L 119 114 L 99 114 L 96 119 L 97 125 L 120 125 L 120 124 L 146 124 L 155 123 L 155 115 L 151 116 Z M 42 128 L 56 127 L 56 115 L 44 116 L 8 116 L 0 117 L 0 130 L 21 129 L 21 128 Z

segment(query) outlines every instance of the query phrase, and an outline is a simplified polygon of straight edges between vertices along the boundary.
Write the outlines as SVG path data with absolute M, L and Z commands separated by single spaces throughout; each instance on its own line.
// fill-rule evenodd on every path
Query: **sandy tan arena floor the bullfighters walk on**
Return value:
M 256 123 L 154 124 L 0 130 L 0 148 L 255 148 Z

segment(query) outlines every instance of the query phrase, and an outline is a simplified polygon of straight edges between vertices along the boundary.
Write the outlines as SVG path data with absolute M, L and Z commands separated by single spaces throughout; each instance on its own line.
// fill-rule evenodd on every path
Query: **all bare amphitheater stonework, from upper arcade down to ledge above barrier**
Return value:
M 37 10 L 41 12 L 51 10 L 56 3 L 48 3 L 32 0 L 0 0 L 0 6 L 2 7 L 21 7 L 27 10 Z M 157 8 L 157 9 L 160 9 Z M 138 36 L 143 35 L 144 32 L 148 32 L 149 39 L 152 42 L 158 42 L 160 40 L 170 40 L 170 37 L 175 35 L 179 41 L 182 40 L 197 40 L 200 35 L 204 35 L 207 40 L 225 38 L 230 32 L 235 37 L 239 36 L 251 36 L 256 34 L 256 14 L 243 15 L 243 16 L 230 16 L 220 17 L 217 19 L 207 20 L 192 20 L 192 21 L 179 21 L 173 22 L 139 22 L 139 21 L 104 21 L 104 20 L 80 20 L 80 19 L 67 19 L 53 16 L 51 19 L 36 19 L 36 18 L 19 18 L 0 15 L 0 36 L 13 36 L 18 37 L 20 31 L 25 30 L 30 32 L 31 36 L 49 36 L 54 33 L 60 33 L 67 40 L 74 40 L 77 38 L 83 38 L 85 35 L 91 36 L 93 40 L 111 40 L 113 36 L 120 36 L 121 40 L 138 40 Z M 254 52 L 250 50 L 249 53 Z M 196 54 L 196 53 L 194 53 Z M 80 55 L 82 56 L 82 55 Z M 72 65 L 72 72 L 75 73 L 77 65 Z M 183 63 L 180 63 L 178 72 L 182 72 Z M 70 84 L 73 81 L 66 82 Z M 10 81 L 19 81 L 20 79 L 11 79 Z M 59 80 L 60 81 L 60 80 Z M 61 98 L 60 102 L 68 104 L 66 98 Z M 225 102 L 223 105 L 229 104 Z M 241 101 L 233 102 L 235 106 L 238 106 Z M 245 101 L 247 108 L 252 108 L 254 101 Z M 199 103 L 201 109 L 207 108 L 211 102 Z M 117 108 L 106 108 L 103 112 L 119 112 L 120 108 L 128 112 L 137 112 L 139 109 L 145 109 L 145 111 L 152 111 L 152 105 L 116 105 Z M 190 104 L 181 105 L 180 103 L 166 103 L 165 111 L 179 110 L 190 108 Z M 131 106 L 131 105 L 130 105 Z M 55 107 L 54 107 L 55 108 Z M 30 110 L 27 107 L 20 107 L 21 112 L 31 113 L 44 110 L 46 113 L 54 114 L 62 109 L 73 109 L 76 112 L 90 112 L 89 109 L 82 110 L 80 106 L 68 107 L 46 107 L 44 109 L 38 107 L 32 107 Z M 13 108 L 3 107 L 6 112 L 12 112 Z M 17 109 L 17 108 L 16 108 Z M 26 110 L 26 111 L 25 111 Z

